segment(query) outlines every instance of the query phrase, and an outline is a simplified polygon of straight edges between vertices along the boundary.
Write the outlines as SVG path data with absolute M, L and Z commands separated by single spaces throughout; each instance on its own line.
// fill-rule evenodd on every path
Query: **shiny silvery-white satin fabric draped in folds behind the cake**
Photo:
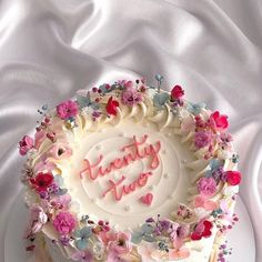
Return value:
M 1 0 L 0 261 L 21 190 L 18 141 L 37 110 L 102 82 L 152 83 L 155 73 L 165 89 L 180 83 L 189 100 L 229 115 L 262 261 L 261 26 L 259 0 Z

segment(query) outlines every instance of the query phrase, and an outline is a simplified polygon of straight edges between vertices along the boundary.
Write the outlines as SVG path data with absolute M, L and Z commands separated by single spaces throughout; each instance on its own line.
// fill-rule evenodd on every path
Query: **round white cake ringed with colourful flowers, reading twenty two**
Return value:
M 241 182 L 228 117 L 120 80 L 53 110 L 19 152 L 27 250 L 53 262 L 224 261 Z

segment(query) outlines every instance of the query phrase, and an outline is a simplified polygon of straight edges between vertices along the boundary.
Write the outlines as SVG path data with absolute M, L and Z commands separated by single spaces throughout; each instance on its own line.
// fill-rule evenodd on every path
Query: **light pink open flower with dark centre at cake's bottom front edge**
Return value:
M 109 258 L 108 261 L 117 261 L 122 255 L 128 254 L 132 250 L 131 234 L 129 232 L 118 232 L 114 240 L 108 243 Z

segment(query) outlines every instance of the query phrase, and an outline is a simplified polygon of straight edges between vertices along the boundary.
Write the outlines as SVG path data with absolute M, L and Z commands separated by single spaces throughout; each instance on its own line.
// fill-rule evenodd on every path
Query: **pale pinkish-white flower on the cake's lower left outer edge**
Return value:
M 43 212 L 43 209 L 39 205 L 31 206 L 29 226 L 24 236 L 29 238 L 30 235 L 39 232 L 47 222 L 48 215 Z

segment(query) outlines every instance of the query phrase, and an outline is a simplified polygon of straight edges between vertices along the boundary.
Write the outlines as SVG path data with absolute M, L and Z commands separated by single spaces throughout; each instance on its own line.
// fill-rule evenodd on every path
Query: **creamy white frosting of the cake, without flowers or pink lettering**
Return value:
M 101 107 L 105 107 L 111 95 L 119 97 L 119 92 L 102 97 Z M 206 118 L 205 110 L 202 110 L 202 115 Z M 183 128 L 181 128 L 182 119 L 188 119 L 188 122 L 183 123 Z M 54 123 L 59 121 L 58 117 L 53 117 Z M 93 121 L 88 111 L 81 111 L 75 118 L 77 127 L 73 129 L 63 127 L 57 135 L 56 144 L 62 147 L 67 141 L 67 147 L 72 150 L 72 155 L 61 160 L 49 158 L 49 161 L 57 165 L 56 172 L 62 174 L 64 188 L 68 189 L 72 199 L 70 211 L 75 213 L 79 220 L 82 215 L 88 214 L 94 221 L 100 219 L 109 221 L 115 230 L 133 231 L 148 218 L 155 218 L 158 214 L 170 220 L 177 219 L 174 213 L 179 204 L 185 204 L 189 209 L 193 209 L 192 200 L 199 194 L 196 182 L 210 167 L 209 160 L 203 158 L 208 149 L 195 150 L 194 130 L 187 128 L 192 121 L 192 114 L 184 108 L 180 108 L 177 113 L 173 113 L 170 104 L 167 103 L 161 110 L 155 111 L 152 99 L 147 95 L 143 97 L 143 101 L 133 107 L 120 103 L 120 107 L 117 108 L 117 115 L 111 118 L 103 114 Z M 141 150 L 150 145 L 153 147 L 159 141 L 161 143 L 158 153 L 159 165 L 155 169 L 150 168 L 152 157 L 148 157 L 131 161 L 127 167 L 112 170 L 94 180 L 90 179 L 89 171 L 81 175 L 81 171 L 87 168 L 84 160 L 95 163 L 102 155 L 100 165 L 105 169 L 115 159 L 123 159 L 127 153 L 134 154 L 134 148 L 129 148 L 125 151 L 122 148 L 133 143 L 134 137 L 138 141 L 142 141 L 144 135 L 147 135 L 147 141 L 140 145 Z M 43 140 L 29 161 L 30 165 L 34 168 L 43 155 L 49 153 L 52 145 L 50 140 Z M 218 158 L 225 159 L 224 170 L 234 169 L 235 164 L 229 160 L 231 157 L 230 152 L 218 151 Z M 94 170 L 97 171 L 97 169 Z M 134 183 L 141 173 L 147 172 L 151 172 L 147 183 L 140 187 L 137 182 L 135 190 L 122 195 L 120 201 L 114 199 L 111 191 L 105 193 L 110 180 L 117 183 L 124 177 L 117 188 L 119 191 L 122 185 Z M 210 200 L 219 202 L 226 198 L 226 194 L 230 193 L 226 189 L 223 183 L 220 183 L 216 193 Z M 149 193 L 152 199 L 145 203 L 141 198 L 148 196 Z M 34 194 L 27 194 L 29 205 L 34 198 Z M 232 200 L 229 200 L 229 205 L 233 209 Z M 209 214 L 209 212 L 204 213 L 204 215 Z M 195 223 L 201 215 L 203 215 L 203 210 L 199 210 L 199 213 L 193 211 L 190 223 Z M 214 225 L 210 238 L 200 241 L 188 240 L 184 246 L 190 250 L 191 255 L 181 261 L 209 261 L 216 231 Z M 58 240 L 58 234 L 50 223 L 43 226 L 43 233 L 46 234 L 47 249 L 53 261 L 71 262 L 70 256 L 74 252 L 74 246 L 63 246 L 58 241 L 52 241 Z M 145 261 L 138 254 L 135 258 L 137 261 Z

